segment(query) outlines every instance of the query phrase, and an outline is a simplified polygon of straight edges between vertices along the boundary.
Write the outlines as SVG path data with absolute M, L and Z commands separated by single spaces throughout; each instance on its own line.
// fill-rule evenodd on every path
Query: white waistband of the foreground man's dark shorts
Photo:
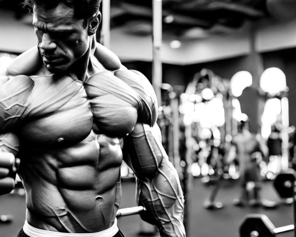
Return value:
M 29 225 L 27 220 L 25 220 L 23 230 L 24 230 L 25 234 L 30 237 L 53 237 L 53 236 L 59 236 L 59 237 L 78 237 L 78 236 L 112 237 L 118 232 L 118 227 L 117 227 L 117 219 L 115 218 L 114 224 L 110 228 L 108 228 L 107 230 L 102 230 L 100 232 L 95 232 L 95 233 L 61 233 L 61 232 L 56 232 L 56 231 L 51 231 L 51 230 L 37 229 L 37 228 Z

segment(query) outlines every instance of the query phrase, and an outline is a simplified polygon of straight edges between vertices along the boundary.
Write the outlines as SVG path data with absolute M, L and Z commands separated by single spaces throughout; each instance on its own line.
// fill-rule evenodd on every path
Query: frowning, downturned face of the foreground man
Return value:
M 38 48 L 46 69 L 52 73 L 65 71 L 89 47 L 83 19 L 78 20 L 73 16 L 74 9 L 64 4 L 53 9 L 34 6 L 33 25 Z

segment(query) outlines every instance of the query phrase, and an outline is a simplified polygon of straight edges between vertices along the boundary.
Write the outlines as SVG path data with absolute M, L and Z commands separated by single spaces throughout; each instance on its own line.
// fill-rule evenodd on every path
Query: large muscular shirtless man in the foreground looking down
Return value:
M 123 159 L 147 209 L 141 217 L 161 236 L 185 236 L 184 198 L 161 145 L 155 93 L 96 42 L 99 1 L 25 3 L 38 45 L 15 59 L 0 89 L 0 159 L 20 158 L 26 191 L 18 236 L 123 236 L 116 225 Z

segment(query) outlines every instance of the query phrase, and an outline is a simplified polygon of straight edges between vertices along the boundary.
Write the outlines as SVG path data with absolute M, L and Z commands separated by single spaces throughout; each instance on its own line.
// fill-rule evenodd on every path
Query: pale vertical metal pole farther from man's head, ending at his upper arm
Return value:
M 161 105 L 162 62 L 160 57 L 162 44 L 162 0 L 152 0 L 152 86 L 158 105 Z

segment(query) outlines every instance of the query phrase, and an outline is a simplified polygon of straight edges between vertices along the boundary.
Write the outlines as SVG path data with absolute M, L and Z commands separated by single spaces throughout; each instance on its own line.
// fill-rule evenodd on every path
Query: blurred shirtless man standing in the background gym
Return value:
M 229 164 L 234 158 L 237 158 L 241 186 L 240 197 L 234 199 L 234 205 L 243 206 L 248 201 L 250 206 L 274 207 L 274 202 L 263 200 L 260 197 L 262 177 L 256 156 L 254 156 L 256 152 L 259 152 L 263 158 L 266 158 L 268 155 L 267 146 L 249 131 L 248 121 L 240 122 L 238 134 L 233 137 L 231 143 L 226 162 Z

